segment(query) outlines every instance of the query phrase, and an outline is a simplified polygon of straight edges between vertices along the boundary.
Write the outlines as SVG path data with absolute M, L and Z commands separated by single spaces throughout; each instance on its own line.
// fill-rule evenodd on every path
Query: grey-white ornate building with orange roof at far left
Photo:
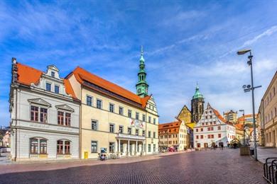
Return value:
M 51 65 L 46 72 L 12 59 L 11 157 L 78 159 L 80 101 Z

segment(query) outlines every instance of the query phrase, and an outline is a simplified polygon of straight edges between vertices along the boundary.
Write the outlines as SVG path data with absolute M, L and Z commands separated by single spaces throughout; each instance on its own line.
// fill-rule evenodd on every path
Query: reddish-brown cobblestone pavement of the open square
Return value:
M 36 171 L 2 173 L 0 183 L 266 183 L 262 164 L 250 156 L 239 156 L 239 149 L 153 158 L 132 163 L 128 159 L 116 159 L 114 163 L 50 171 L 38 171 L 36 165 L 29 164 Z

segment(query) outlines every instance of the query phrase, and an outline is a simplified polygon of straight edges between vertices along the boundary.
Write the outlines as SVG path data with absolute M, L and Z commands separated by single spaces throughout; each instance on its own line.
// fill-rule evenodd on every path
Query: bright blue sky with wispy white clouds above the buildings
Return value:
M 277 1 L 0 1 L 0 125 L 9 125 L 11 57 L 66 76 L 80 66 L 136 92 L 141 45 L 160 115 L 175 120 L 198 82 L 220 113 L 256 111 L 277 69 Z M 240 115 L 240 114 L 239 114 Z

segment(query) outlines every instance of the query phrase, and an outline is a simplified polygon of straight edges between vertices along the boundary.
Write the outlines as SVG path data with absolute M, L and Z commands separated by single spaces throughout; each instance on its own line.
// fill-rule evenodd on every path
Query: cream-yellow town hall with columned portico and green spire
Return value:
M 80 107 L 81 158 L 100 152 L 116 156 L 158 151 L 158 113 L 141 54 L 137 94 L 77 67 L 66 78 L 82 101 Z

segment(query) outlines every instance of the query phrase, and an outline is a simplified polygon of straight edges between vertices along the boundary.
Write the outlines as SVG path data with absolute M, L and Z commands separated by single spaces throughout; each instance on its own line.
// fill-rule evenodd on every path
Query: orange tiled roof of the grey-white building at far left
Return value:
M 21 64 L 21 63 L 17 63 L 16 65 L 18 68 L 17 73 L 18 73 L 19 84 L 23 84 L 26 86 L 30 86 L 32 83 L 38 84 L 38 82 L 40 81 L 40 76 L 43 74 L 43 71 L 34 69 L 32 67 L 28 67 L 27 65 Z M 76 98 L 75 93 L 70 84 L 70 81 L 68 81 L 67 79 L 64 79 L 63 81 L 65 84 L 65 92 L 67 94 L 70 94 L 72 98 Z

